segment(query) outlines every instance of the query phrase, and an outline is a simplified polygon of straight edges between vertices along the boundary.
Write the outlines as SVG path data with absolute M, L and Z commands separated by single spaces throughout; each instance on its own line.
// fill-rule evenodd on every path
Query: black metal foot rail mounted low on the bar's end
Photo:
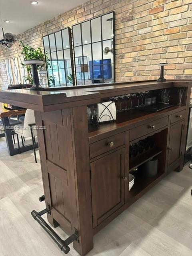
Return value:
M 75 229 L 74 234 L 69 236 L 66 240 L 62 240 L 60 236 L 47 224 L 46 221 L 41 217 L 45 213 L 50 213 L 50 207 L 49 204 L 47 208 L 42 210 L 41 212 L 37 212 L 36 210 L 33 210 L 31 212 L 31 215 L 33 218 L 40 224 L 40 226 L 47 232 L 47 234 L 54 240 L 54 242 L 59 246 L 60 250 L 67 254 L 70 251 L 69 244 L 71 244 L 73 241 L 78 241 L 78 231 Z

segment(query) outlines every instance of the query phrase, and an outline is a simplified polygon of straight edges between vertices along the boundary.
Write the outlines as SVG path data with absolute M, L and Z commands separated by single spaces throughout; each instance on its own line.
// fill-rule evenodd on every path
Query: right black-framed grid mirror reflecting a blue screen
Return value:
M 72 26 L 76 85 L 115 82 L 114 12 Z

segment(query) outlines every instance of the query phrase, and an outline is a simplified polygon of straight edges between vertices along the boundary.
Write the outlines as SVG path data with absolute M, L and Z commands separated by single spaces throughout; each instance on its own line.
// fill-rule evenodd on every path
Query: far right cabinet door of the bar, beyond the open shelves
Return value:
M 169 165 L 180 159 L 183 127 L 184 122 L 179 122 L 170 127 Z

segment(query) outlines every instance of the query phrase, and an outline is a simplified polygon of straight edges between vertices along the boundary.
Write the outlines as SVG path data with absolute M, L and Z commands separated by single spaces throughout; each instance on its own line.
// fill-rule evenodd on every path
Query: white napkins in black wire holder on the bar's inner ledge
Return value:
M 113 101 L 97 104 L 97 122 L 108 122 L 116 120 L 116 106 Z

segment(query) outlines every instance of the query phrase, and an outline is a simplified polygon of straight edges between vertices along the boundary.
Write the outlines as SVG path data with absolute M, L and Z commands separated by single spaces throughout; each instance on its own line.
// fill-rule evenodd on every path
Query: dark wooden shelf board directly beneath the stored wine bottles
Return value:
M 155 156 L 159 155 L 162 152 L 160 148 L 152 148 L 149 151 L 143 152 L 136 157 L 130 159 L 129 170 L 133 170 L 136 167 L 140 166 L 144 162 L 154 158 Z

